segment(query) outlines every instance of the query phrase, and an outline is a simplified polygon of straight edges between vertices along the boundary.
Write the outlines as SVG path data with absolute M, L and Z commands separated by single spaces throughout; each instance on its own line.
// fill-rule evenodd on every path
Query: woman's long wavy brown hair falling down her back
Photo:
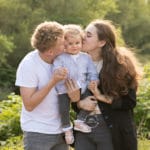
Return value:
M 101 48 L 103 67 L 100 82 L 104 94 L 113 97 L 126 95 L 129 89 L 137 90 L 138 63 L 133 53 L 125 47 L 116 45 L 116 29 L 108 20 L 95 20 L 99 40 L 106 44 Z

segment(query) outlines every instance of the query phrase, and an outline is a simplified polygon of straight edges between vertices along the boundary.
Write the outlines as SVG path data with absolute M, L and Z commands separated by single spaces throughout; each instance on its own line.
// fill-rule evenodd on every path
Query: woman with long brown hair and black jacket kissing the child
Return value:
M 133 121 L 139 77 L 136 59 L 126 48 L 116 46 L 116 29 L 110 21 L 95 20 L 86 27 L 85 32 L 83 49 L 91 55 L 100 72 L 98 88 L 94 84 L 89 88 L 98 100 L 103 117 L 112 131 L 114 150 L 137 150 Z M 111 104 L 104 103 L 104 99 Z M 77 105 L 86 110 L 94 107 L 88 97 Z M 99 130 L 95 128 L 91 134 L 100 134 Z M 96 136 L 92 137 L 91 134 L 76 133 L 76 150 L 88 149 L 92 144 L 93 149 L 89 150 L 98 150 L 96 143 L 92 143 Z

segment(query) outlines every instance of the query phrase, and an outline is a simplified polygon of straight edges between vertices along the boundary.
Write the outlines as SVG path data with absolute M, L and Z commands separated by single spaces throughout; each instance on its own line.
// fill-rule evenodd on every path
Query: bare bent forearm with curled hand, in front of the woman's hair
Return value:
M 101 94 L 101 92 L 97 88 L 97 85 L 98 85 L 97 81 L 91 81 L 89 83 L 88 88 L 93 93 L 93 95 L 96 97 L 97 100 L 99 100 L 101 102 L 111 104 L 112 103 L 112 98 L 110 96 L 105 96 L 105 95 Z

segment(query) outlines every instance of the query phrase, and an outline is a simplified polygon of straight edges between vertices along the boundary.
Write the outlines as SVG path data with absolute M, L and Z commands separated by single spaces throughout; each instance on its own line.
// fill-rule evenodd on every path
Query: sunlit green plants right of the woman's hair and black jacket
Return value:
M 150 139 L 150 64 L 145 65 L 144 73 L 138 90 L 135 120 L 138 136 Z

